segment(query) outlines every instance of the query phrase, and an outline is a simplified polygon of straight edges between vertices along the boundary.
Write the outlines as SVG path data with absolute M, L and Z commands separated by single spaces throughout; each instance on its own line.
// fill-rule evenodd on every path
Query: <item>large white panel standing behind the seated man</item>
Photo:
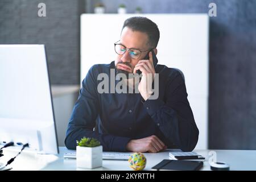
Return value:
M 125 19 L 136 14 L 81 15 L 81 81 L 94 64 L 116 57 L 114 43 Z M 139 14 L 158 24 L 158 63 L 180 69 L 197 127 L 196 149 L 208 148 L 209 18 L 207 14 Z M 102 48 L 98 48 L 101 45 Z

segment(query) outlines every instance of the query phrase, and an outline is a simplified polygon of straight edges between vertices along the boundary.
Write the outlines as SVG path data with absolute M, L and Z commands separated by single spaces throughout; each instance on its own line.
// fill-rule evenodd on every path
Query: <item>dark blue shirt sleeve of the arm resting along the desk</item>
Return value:
M 95 69 L 97 69 L 96 65 L 90 68 L 82 81 L 79 98 L 73 107 L 71 119 L 68 123 L 65 146 L 68 149 L 75 150 L 76 140 L 90 137 L 98 139 L 104 151 L 126 151 L 126 145 L 130 138 L 100 134 L 93 131 L 96 126 L 98 111 L 100 110 L 97 96 L 97 77 L 93 74 Z

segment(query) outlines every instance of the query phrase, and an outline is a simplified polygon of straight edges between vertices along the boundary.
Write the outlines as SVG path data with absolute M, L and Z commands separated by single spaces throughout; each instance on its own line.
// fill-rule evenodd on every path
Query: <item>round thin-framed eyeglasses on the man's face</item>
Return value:
M 120 40 L 118 40 L 119 42 Z M 142 52 L 147 52 L 150 51 L 151 49 L 148 49 L 146 51 L 141 51 L 139 49 L 134 49 L 134 48 L 126 48 L 125 46 L 123 46 L 122 44 L 118 44 L 118 42 L 114 43 L 115 46 L 115 52 L 118 55 L 123 55 L 126 51 L 129 52 L 129 55 L 131 56 L 131 59 L 139 59 L 139 57 L 141 56 Z

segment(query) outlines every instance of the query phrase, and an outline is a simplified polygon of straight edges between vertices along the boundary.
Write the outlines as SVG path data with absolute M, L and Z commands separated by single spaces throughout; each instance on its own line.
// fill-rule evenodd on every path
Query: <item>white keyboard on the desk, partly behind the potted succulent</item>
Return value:
M 133 152 L 102 152 L 103 160 L 128 160 Z M 76 152 L 64 154 L 64 159 L 76 159 Z

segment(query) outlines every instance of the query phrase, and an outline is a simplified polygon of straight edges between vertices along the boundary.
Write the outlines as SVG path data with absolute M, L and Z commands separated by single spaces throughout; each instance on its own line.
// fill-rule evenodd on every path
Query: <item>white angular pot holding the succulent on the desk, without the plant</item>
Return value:
M 76 167 L 97 168 L 102 166 L 102 146 L 76 146 Z

